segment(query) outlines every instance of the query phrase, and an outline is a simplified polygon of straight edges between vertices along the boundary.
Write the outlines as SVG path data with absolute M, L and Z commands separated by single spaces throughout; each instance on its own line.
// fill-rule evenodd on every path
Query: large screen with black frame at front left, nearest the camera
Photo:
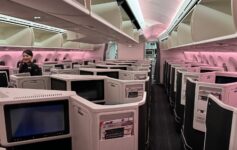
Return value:
M 68 100 L 4 106 L 8 142 L 69 133 Z

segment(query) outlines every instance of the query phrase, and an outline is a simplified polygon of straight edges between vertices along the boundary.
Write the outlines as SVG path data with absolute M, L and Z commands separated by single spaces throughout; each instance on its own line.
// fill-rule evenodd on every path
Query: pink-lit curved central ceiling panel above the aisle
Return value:
M 170 25 L 176 11 L 184 0 L 139 0 L 148 40 L 157 39 Z

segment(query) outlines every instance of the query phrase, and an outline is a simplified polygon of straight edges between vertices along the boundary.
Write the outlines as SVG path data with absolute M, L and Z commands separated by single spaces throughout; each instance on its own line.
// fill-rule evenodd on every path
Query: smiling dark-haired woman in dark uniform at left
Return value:
M 22 60 L 19 65 L 19 73 L 29 72 L 31 76 L 42 75 L 41 68 L 32 62 L 33 53 L 31 50 L 24 50 Z

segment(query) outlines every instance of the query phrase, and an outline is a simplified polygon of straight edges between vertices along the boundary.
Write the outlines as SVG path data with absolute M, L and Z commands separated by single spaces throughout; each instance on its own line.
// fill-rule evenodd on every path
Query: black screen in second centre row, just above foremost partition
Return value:
M 72 81 L 71 90 L 89 100 L 104 100 L 104 80 Z

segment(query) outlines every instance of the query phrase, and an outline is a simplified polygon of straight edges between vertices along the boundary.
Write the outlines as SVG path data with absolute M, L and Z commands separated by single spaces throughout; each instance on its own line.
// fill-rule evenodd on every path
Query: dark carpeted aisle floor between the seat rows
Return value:
M 151 90 L 150 150 L 182 150 L 163 86 L 153 84 Z

